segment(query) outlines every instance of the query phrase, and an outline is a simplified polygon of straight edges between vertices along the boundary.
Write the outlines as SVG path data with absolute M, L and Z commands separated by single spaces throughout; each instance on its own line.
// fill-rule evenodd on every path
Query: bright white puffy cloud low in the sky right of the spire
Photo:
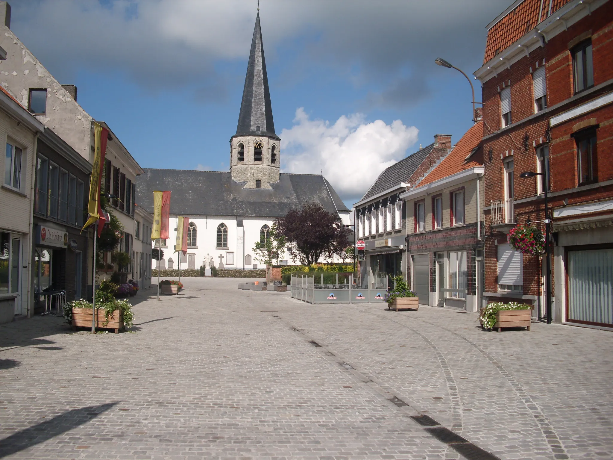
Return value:
M 300 107 L 294 126 L 281 132 L 284 172 L 320 174 L 344 200 L 359 199 L 379 173 L 404 158 L 419 131 L 395 120 L 371 123 L 364 115 L 343 115 L 335 123 L 311 120 Z

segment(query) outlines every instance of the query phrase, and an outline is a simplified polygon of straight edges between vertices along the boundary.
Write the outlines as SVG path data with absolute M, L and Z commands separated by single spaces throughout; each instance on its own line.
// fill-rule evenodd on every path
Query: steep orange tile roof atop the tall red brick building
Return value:
M 570 0 L 544 0 L 541 21 L 547 17 L 549 4 L 552 4 L 552 14 L 565 6 Z M 539 19 L 541 0 L 524 0 L 509 11 L 506 16 L 495 23 L 487 31 L 487 43 L 483 63 L 487 63 L 504 48 L 535 28 Z

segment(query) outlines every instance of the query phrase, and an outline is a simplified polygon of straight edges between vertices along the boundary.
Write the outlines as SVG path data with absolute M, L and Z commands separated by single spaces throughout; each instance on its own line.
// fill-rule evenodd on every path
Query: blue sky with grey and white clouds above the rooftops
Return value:
M 347 204 L 376 175 L 471 126 L 467 74 L 510 0 L 263 0 L 281 166 L 323 171 Z M 142 167 L 229 167 L 255 1 L 21 0 L 11 28 Z M 478 82 L 476 99 L 481 100 Z

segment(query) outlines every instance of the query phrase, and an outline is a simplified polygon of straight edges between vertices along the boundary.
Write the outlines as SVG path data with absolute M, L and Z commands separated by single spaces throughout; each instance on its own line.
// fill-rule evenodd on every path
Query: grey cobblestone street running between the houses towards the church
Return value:
M 182 281 L 131 332 L 0 326 L 0 458 L 613 458 L 611 332 Z

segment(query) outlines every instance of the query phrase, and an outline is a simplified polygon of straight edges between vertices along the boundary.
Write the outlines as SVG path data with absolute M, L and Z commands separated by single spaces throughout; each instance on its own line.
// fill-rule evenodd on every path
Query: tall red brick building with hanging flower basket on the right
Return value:
M 552 319 L 613 328 L 613 2 L 517 0 L 487 29 L 485 299 L 544 316 L 543 260 L 507 241 L 544 231 L 548 187 Z

